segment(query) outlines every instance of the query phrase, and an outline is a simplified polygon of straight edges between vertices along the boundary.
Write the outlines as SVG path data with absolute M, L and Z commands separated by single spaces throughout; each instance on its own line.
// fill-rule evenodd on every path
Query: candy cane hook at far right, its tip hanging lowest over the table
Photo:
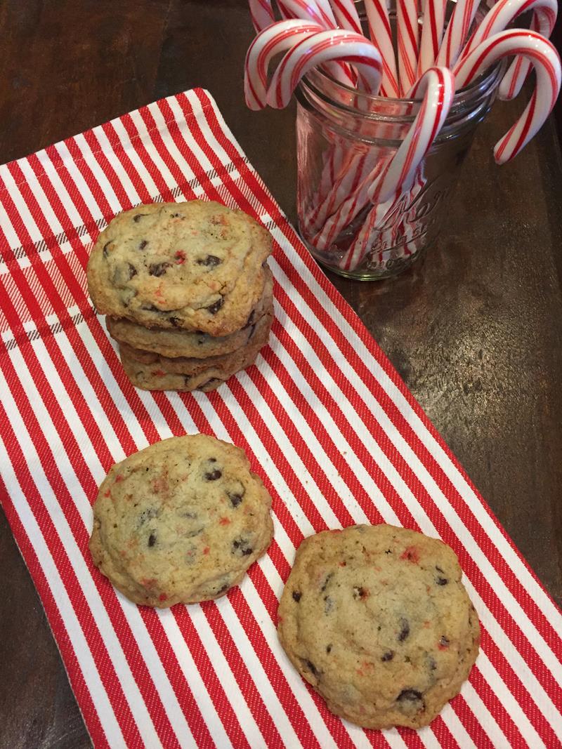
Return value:
M 494 157 L 498 164 L 519 154 L 552 112 L 561 85 L 560 56 L 536 31 L 501 31 L 481 42 L 454 70 L 456 87 L 463 88 L 492 64 L 512 55 L 527 58 L 534 66 L 537 79 L 525 112 L 495 145 Z

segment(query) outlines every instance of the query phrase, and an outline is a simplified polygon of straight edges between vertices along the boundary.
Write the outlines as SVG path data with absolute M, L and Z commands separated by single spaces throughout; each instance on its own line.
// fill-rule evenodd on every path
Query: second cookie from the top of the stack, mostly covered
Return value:
M 160 356 L 193 357 L 207 359 L 230 354 L 243 348 L 253 337 L 253 326 L 265 315 L 273 315 L 273 277 L 265 267 L 266 281 L 264 295 L 250 312 L 247 324 L 229 336 L 209 336 L 208 333 L 190 333 L 187 330 L 166 330 L 165 328 L 145 328 L 126 318 L 106 318 L 109 334 L 119 343 L 126 343 L 142 351 L 151 351 Z

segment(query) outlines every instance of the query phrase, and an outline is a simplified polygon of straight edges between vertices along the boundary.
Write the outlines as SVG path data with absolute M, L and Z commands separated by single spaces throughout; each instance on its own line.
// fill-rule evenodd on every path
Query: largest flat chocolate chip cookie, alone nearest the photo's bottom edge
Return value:
M 480 624 L 453 550 L 357 525 L 305 539 L 279 607 L 280 642 L 336 715 L 428 725 L 468 678 Z

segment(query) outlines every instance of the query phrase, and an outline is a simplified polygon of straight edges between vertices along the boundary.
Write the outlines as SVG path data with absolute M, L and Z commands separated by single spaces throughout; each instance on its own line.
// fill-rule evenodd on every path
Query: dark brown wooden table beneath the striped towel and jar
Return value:
M 244 0 L 4 0 L 0 162 L 193 86 L 216 98 L 295 219 L 294 110 L 250 112 Z M 391 282 L 332 278 L 507 532 L 562 602 L 562 160 L 549 122 L 510 165 L 496 104 L 442 239 Z M 0 747 L 89 746 L 37 593 L 0 513 Z

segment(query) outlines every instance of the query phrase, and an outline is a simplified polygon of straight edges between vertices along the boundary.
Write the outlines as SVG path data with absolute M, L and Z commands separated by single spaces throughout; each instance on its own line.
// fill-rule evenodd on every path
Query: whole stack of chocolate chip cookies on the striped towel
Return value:
M 268 342 L 273 279 L 268 231 L 214 202 L 120 213 L 88 262 L 88 290 L 146 390 L 213 390 Z

